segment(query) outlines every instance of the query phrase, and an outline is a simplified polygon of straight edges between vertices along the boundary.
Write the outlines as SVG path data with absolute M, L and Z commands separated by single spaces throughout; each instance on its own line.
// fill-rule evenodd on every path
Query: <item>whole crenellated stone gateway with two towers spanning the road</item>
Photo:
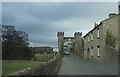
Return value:
M 75 53 L 83 57 L 82 32 L 75 32 L 74 37 L 64 37 L 64 32 L 58 32 L 57 37 L 60 56 L 64 56 L 64 43 L 70 40 L 75 43 Z

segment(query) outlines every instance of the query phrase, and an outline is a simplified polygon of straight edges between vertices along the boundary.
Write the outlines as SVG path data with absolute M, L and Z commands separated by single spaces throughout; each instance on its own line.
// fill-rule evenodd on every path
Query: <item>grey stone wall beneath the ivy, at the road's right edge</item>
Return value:
M 99 59 L 89 59 L 91 61 L 97 61 L 99 63 L 109 63 L 109 64 L 118 64 L 118 51 L 115 48 L 105 46 L 104 51 L 102 52 L 102 56 Z

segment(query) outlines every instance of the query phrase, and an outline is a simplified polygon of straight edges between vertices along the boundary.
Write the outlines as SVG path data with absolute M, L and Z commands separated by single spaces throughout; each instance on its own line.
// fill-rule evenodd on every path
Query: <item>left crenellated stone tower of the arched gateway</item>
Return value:
M 59 56 L 63 57 L 64 56 L 64 32 L 58 32 L 57 33 L 58 37 L 58 54 Z

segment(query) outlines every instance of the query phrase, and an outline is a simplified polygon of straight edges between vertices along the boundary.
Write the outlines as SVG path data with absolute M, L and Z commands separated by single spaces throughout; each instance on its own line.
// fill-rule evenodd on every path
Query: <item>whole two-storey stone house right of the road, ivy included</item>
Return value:
M 118 63 L 118 17 L 120 14 L 109 14 L 84 36 L 84 58 Z

